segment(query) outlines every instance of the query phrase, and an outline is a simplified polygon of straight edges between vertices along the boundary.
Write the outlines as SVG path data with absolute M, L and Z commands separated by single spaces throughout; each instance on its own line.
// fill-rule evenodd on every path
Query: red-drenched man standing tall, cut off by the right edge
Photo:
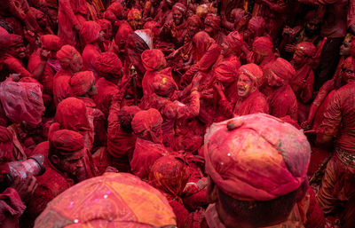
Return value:
M 336 138 L 335 152 L 327 163 L 317 200 L 326 215 L 336 215 L 340 203 L 343 209 L 338 210 L 338 216 L 345 228 L 355 223 L 355 65 L 354 59 L 349 58 L 351 65 L 343 73 L 347 84 L 335 91 L 317 135 L 317 142 L 325 146 L 331 145 L 332 139 Z

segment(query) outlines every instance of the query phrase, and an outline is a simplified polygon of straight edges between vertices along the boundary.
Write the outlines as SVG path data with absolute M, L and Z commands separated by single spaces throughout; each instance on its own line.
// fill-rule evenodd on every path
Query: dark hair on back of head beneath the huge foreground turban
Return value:
M 229 216 L 234 217 L 237 221 L 245 221 L 256 227 L 264 227 L 279 224 L 288 218 L 296 203 L 297 193 L 300 188 L 274 200 L 267 201 L 236 200 L 219 189 L 218 196 L 222 207 Z

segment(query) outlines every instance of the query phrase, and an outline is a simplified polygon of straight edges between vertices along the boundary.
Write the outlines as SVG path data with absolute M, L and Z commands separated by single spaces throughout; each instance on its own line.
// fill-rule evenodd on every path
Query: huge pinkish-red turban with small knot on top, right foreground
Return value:
M 273 200 L 307 179 L 311 146 L 303 131 L 268 114 L 212 124 L 205 135 L 206 173 L 236 200 Z

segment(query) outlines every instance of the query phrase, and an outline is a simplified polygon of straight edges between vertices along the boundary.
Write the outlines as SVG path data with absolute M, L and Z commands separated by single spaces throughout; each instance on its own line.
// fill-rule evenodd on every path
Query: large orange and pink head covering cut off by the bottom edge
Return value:
M 168 200 L 128 173 L 105 173 L 60 193 L 38 216 L 35 228 L 165 227 L 176 225 Z

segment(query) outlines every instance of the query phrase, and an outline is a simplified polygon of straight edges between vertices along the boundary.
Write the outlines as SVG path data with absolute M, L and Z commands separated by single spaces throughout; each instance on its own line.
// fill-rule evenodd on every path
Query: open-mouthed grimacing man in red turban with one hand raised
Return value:
M 222 87 L 217 84 L 215 87 L 220 96 L 219 106 L 224 110 L 225 117 L 269 113 L 269 105 L 263 93 L 258 88 L 263 79 L 263 71 L 257 65 L 249 63 L 238 69 L 237 94 L 233 101 L 225 98 Z

